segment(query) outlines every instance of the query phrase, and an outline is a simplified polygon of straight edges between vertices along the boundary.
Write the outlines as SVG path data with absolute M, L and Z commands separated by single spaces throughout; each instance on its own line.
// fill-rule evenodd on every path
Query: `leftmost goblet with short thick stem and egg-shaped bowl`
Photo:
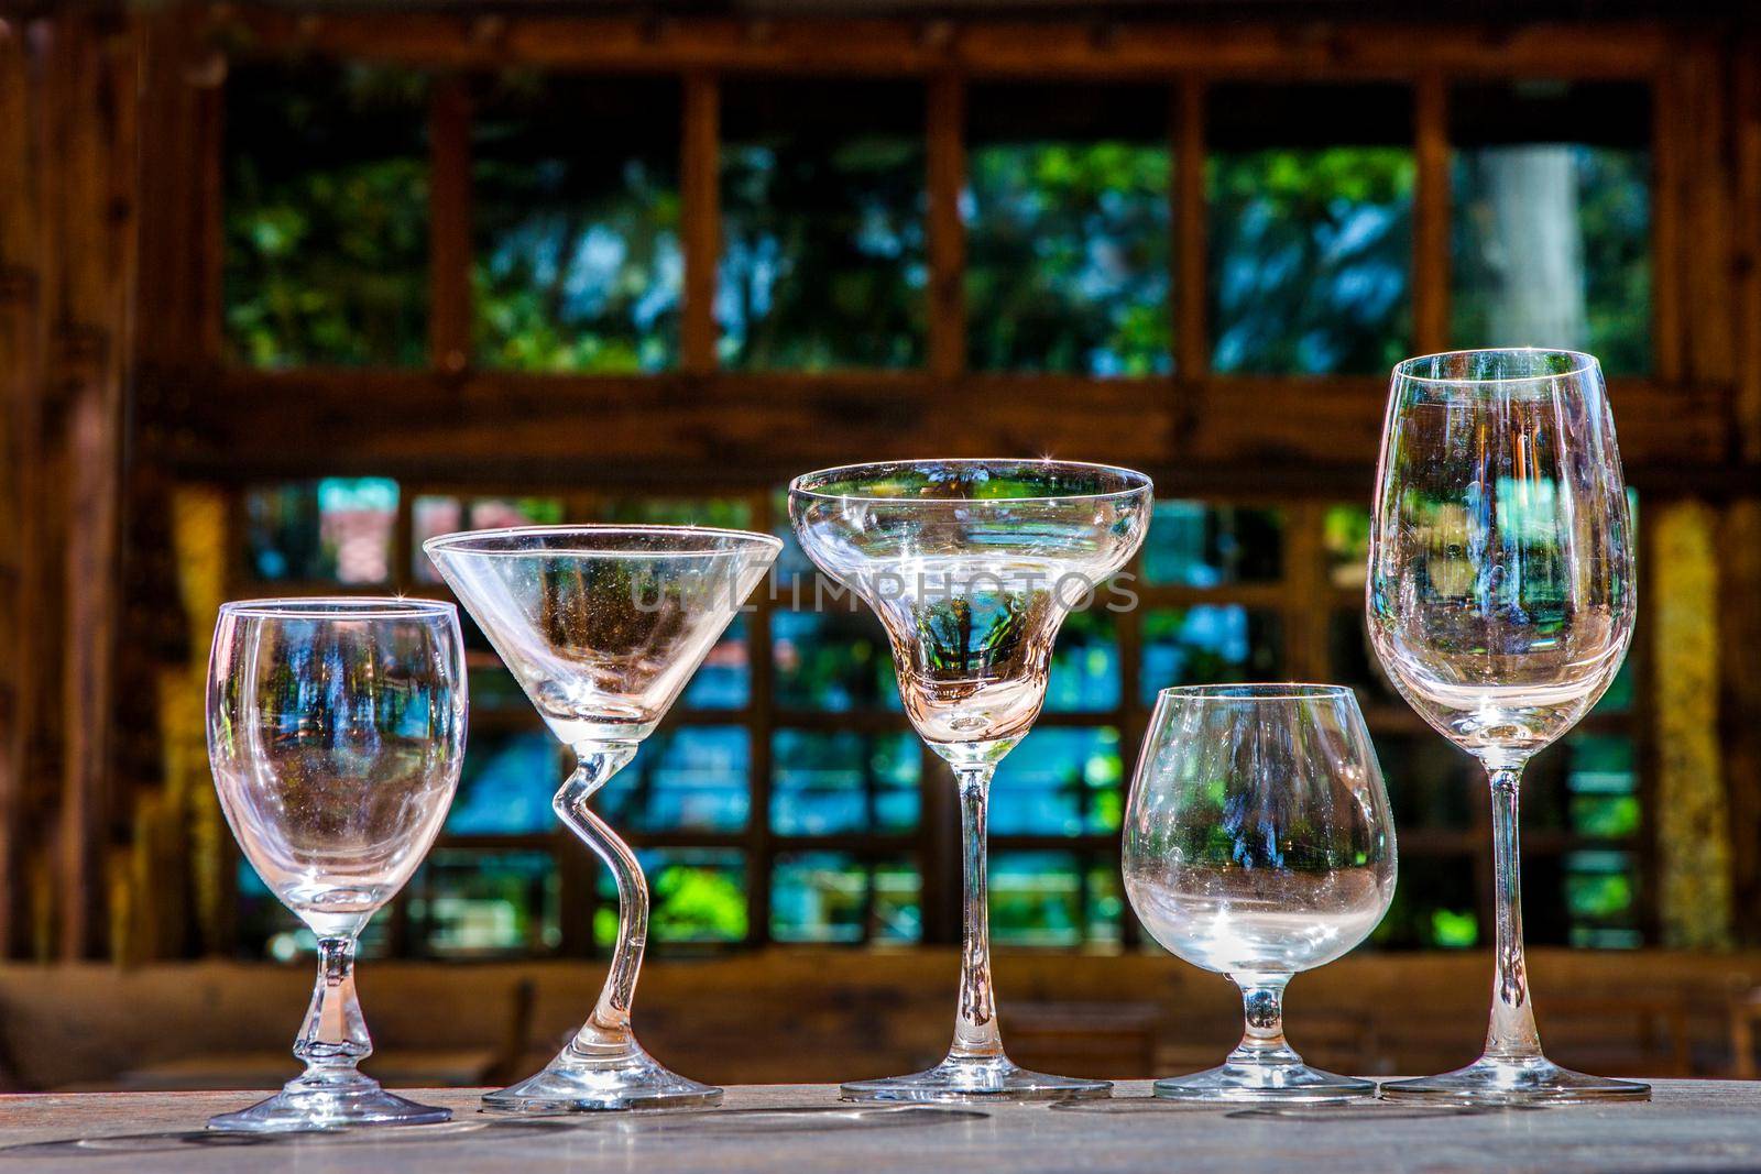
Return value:
M 453 803 L 465 755 L 458 609 L 409 598 L 220 605 L 208 664 L 208 760 L 245 859 L 319 940 L 319 980 L 275 1097 L 217 1130 L 426 1125 L 449 1109 L 363 1075 L 373 1053 L 354 993 L 368 919 L 410 878 Z

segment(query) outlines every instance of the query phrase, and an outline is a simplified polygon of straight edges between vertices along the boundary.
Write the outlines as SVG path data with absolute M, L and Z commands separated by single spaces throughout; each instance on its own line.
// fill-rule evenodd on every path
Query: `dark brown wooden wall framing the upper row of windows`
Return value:
M 1662 11 L 1662 5 L 1659 5 Z M 571 65 L 685 76 L 690 208 L 683 368 L 653 378 L 488 377 L 465 361 L 468 209 L 433 208 L 424 371 L 227 370 L 220 359 L 220 84 L 229 56 L 313 51 L 435 67 Z M 1643 77 L 1657 92 L 1657 371 L 1613 389 L 1647 502 L 1705 502 L 1720 579 L 1717 723 L 1731 908 L 1761 940 L 1761 35 L 1736 25 L 1451 30 L 1349 25 L 812 21 L 298 14 L 250 5 L 81 9 L 0 23 L 0 945 L 12 956 L 176 956 L 190 838 L 155 808 L 169 753 L 155 681 L 190 669 L 178 605 L 180 484 L 280 472 L 431 472 L 632 482 L 694 470 L 771 484 L 889 454 L 1104 451 L 1171 491 L 1338 493 L 1365 484 L 1377 378 L 1206 375 L 1203 297 L 1175 299 L 1180 375 L 1143 382 L 965 371 L 954 197 L 965 83 L 1168 79 L 1175 285 L 1205 282 L 1199 201 L 1210 79 L 1405 77 L 1418 93 L 1419 241 L 1448 234 L 1437 70 Z M 731 72 L 907 74 L 930 83 L 930 364 L 921 373 L 715 370 L 717 86 Z M 435 165 L 463 158 L 444 134 Z M 690 144 L 701 150 L 690 151 Z M 706 144 L 706 146 L 704 146 Z M 453 148 L 458 144 L 453 143 Z M 451 151 L 451 153 L 449 153 Z M 694 160 L 694 162 L 692 162 Z M 1426 181 L 1425 176 L 1430 176 Z M 942 275 L 942 276 L 937 276 Z M 1444 343 L 1448 275 L 1416 273 L 1418 345 Z M 1252 410 L 1242 410 L 1252 405 Z M 592 422 L 586 426 L 585 422 Z M 157 813 L 155 813 L 157 811 Z M 157 820 L 157 831 L 143 831 Z M 141 908 L 141 891 L 164 908 Z M 111 892 L 114 889 L 114 894 Z M 130 896 L 132 894 L 132 896 Z M 116 926 L 109 922 L 116 921 Z M 153 926 L 151 931 L 143 926 Z M 132 936 L 130 936 L 132 935 Z

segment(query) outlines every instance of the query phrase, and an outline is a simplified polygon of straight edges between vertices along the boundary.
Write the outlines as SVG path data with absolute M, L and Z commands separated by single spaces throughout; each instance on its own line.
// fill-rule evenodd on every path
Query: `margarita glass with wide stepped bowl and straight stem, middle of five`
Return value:
M 1034 725 L 1064 616 L 1125 565 L 1150 525 L 1143 473 L 1069 461 L 851 465 L 796 477 L 789 516 L 808 558 L 861 597 L 893 646 L 917 734 L 960 787 L 965 945 L 947 1058 L 852 1081 L 847 1100 L 1104 1097 L 1002 1049 L 990 972 L 984 820 L 997 764 Z

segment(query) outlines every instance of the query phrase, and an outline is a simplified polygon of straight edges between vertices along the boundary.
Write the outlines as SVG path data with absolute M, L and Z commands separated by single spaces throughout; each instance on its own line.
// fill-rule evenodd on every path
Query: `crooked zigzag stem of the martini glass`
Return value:
M 588 810 L 586 801 L 636 757 L 636 743 L 581 743 L 574 752 L 579 766 L 564 781 L 551 806 L 618 882 L 618 942 L 611 949 L 611 970 L 593 1014 L 569 1047 L 583 1056 L 606 1058 L 636 1046 L 630 1035 L 630 1000 L 636 996 L 636 975 L 648 947 L 648 882 L 630 845 Z

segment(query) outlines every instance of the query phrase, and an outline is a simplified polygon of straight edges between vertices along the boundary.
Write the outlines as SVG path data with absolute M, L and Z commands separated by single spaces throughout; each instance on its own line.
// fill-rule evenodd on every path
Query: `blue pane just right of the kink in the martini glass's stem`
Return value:
M 627 831 L 740 831 L 752 806 L 748 771 L 745 727 L 660 730 L 606 783 L 599 806 Z

